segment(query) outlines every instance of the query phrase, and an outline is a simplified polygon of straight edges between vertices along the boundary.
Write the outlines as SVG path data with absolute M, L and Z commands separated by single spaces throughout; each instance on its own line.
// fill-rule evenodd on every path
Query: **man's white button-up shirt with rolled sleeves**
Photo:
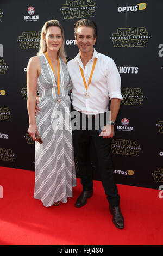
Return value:
M 91 83 L 86 92 L 79 65 L 83 69 L 86 84 L 88 84 L 94 59 L 97 58 Z M 114 60 L 97 53 L 94 49 L 92 59 L 83 67 L 80 53 L 67 63 L 68 72 L 72 81 L 72 105 L 77 111 L 85 113 L 99 113 L 108 111 L 109 100 L 118 98 L 122 100 L 121 77 Z

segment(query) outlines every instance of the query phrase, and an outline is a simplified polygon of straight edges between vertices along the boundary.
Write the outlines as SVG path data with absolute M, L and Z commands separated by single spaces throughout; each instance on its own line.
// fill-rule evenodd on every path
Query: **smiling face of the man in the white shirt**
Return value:
M 79 51 L 82 53 L 89 53 L 95 45 L 96 38 L 93 35 L 93 28 L 81 26 L 77 28 L 76 33 L 76 44 L 79 48 Z

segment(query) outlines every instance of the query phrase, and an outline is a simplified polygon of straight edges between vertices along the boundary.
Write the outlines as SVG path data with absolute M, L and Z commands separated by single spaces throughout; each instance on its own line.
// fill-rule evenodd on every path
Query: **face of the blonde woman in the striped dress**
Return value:
M 48 27 L 44 40 L 49 50 L 58 51 L 63 41 L 61 29 L 57 26 Z

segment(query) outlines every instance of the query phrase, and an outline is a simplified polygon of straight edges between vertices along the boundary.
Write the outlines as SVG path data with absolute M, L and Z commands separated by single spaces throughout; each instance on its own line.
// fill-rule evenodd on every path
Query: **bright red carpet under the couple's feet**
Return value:
M 0 245 L 162 245 L 163 199 L 158 190 L 118 185 L 125 228 L 112 223 L 101 182 L 83 208 L 74 203 L 45 208 L 33 198 L 34 172 L 0 167 Z M 2 187 L 1 187 L 2 188 Z M 2 195 L 1 195 L 2 197 Z

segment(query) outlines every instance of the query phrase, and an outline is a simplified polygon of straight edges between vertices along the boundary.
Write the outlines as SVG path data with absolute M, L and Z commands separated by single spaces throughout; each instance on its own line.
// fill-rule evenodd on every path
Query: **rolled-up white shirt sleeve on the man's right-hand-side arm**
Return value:
M 121 94 L 121 77 L 114 60 L 111 58 L 108 62 L 108 67 L 106 68 L 106 81 L 108 84 L 109 98 L 123 100 Z

